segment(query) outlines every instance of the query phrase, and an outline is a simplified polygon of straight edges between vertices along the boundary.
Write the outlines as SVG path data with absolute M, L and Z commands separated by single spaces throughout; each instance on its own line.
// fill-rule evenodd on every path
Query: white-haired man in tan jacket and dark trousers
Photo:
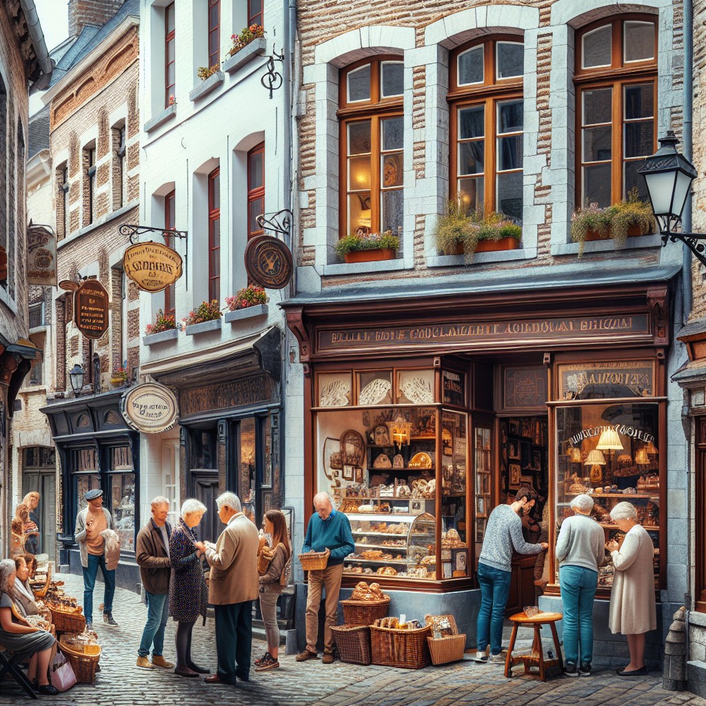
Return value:
M 218 671 L 205 677 L 211 684 L 249 681 L 253 638 L 253 601 L 258 597 L 258 530 L 243 513 L 235 493 L 216 499 L 218 517 L 226 525 L 218 542 L 196 542 L 211 567 L 208 602 L 214 606 Z

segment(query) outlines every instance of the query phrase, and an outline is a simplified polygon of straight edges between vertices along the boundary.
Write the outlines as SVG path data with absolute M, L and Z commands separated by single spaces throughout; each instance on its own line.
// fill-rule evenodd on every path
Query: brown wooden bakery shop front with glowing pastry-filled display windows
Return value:
M 284 305 L 304 365 L 305 522 L 319 491 L 348 515 L 347 589 L 380 583 L 392 615 L 453 613 L 474 645 L 488 517 L 521 486 L 539 498 L 526 537 L 546 530 L 551 546 L 572 496 L 595 498 L 606 542 L 618 535 L 611 507 L 635 504 L 663 587 L 670 273 L 654 274 L 560 289 L 537 280 L 513 297 L 402 287 Z M 611 582 L 609 566 L 597 598 L 606 616 Z M 551 552 L 516 556 L 508 614 L 542 591 L 561 601 Z

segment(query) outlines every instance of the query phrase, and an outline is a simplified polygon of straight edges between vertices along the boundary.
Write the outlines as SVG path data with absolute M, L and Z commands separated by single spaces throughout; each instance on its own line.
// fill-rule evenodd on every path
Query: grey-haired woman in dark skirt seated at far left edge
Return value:
M 15 562 L 12 559 L 0 561 L 0 645 L 20 654 L 20 659 L 29 657 L 28 678 L 37 685 L 40 694 L 54 696 L 59 690 L 49 683 L 47 671 L 56 640 L 46 630 L 32 628 L 20 616 L 13 600 L 16 578 Z

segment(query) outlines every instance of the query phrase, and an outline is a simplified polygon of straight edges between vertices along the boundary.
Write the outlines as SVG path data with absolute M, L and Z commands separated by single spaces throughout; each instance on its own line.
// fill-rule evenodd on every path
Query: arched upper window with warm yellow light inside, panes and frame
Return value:
M 341 237 L 388 230 L 402 235 L 404 90 L 404 64 L 395 56 L 341 71 Z

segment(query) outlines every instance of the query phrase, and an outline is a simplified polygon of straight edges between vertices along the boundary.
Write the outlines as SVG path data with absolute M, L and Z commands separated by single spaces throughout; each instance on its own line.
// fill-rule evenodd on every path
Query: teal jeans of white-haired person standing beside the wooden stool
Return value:
M 581 664 L 593 658 L 593 599 L 596 596 L 598 572 L 582 566 L 559 569 L 561 604 L 563 606 L 564 654 L 566 662 L 578 664 L 579 641 Z

